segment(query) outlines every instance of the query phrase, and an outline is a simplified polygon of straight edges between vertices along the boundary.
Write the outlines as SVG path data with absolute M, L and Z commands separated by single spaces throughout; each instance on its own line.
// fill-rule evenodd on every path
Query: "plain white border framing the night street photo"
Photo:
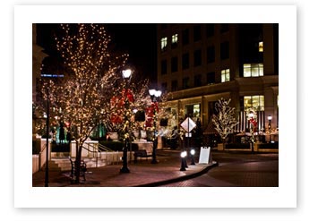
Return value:
M 31 150 L 28 148 L 31 147 L 32 124 L 32 23 L 66 22 L 279 23 L 279 187 L 33 188 Z M 297 125 L 288 126 L 288 119 L 295 119 L 293 122 L 297 122 L 296 6 L 16 5 L 14 7 L 14 207 L 16 208 L 296 208 Z M 142 200 L 136 201 L 141 193 Z M 90 203 L 82 204 L 83 199 L 90 200 Z M 195 203 L 189 203 L 189 199 L 195 200 Z

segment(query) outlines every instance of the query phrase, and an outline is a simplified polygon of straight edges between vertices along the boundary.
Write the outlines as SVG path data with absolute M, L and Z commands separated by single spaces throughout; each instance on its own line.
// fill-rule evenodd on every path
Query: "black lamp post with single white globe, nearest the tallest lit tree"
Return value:
M 130 119 L 128 119 L 127 116 L 127 110 L 129 109 L 129 100 L 127 98 L 127 86 L 128 86 L 128 81 L 130 80 L 132 76 L 132 70 L 127 69 L 124 70 L 123 72 L 123 78 L 125 81 L 125 123 L 129 122 Z M 129 123 L 130 124 L 130 123 Z M 125 125 L 125 136 L 124 136 L 124 149 L 123 149 L 123 167 L 120 169 L 120 173 L 130 173 L 130 170 L 128 168 L 128 163 L 127 163 L 127 151 L 128 151 L 128 145 L 130 142 L 130 132 L 128 126 Z

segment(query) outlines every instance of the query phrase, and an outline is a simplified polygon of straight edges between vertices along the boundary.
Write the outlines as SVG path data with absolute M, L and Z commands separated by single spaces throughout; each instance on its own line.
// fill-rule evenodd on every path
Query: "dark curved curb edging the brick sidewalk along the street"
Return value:
M 202 169 L 201 171 L 194 173 L 194 174 L 187 174 L 187 175 L 183 175 L 183 176 L 172 178 L 172 179 L 165 180 L 165 181 L 159 181 L 159 182 L 154 182 L 154 183 L 145 183 L 145 184 L 136 185 L 133 187 L 156 187 L 156 186 L 161 186 L 161 185 L 167 185 L 169 183 L 176 183 L 176 182 L 181 182 L 181 181 L 193 179 L 193 178 L 200 176 L 202 174 L 206 174 L 209 170 L 211 170 L 211 168 L 213 168 L 215 166 L 219 166 L 219 163 L 216 161 L 215 161 L 215 163 L 212 163 L 210 166 L 206 166 L 204 169 Z

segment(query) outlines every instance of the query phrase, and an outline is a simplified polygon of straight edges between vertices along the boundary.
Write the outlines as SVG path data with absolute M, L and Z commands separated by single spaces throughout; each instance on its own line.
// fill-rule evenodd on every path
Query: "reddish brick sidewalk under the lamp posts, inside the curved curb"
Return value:
M 192 179 L 205 174 L 218 162 L 198 164 L 199 156 L 194 156 L 195 165 L 191 165 L 191 158 L 187 159 L 185 171 L 181 171 L 180 150 L 157 151 L 158 164 L 151 164 L 151 157 L 129 162 L 130 173 L 120 173 L 122 164 L 88 168 L 85 174 L 86 181 L 71 183 L 69 171 L 49 171 L 49 187 L 154 187 L 167 185 Z M 32 175 L 32 186 L 43 187 L 45 172 L 39 171 Z

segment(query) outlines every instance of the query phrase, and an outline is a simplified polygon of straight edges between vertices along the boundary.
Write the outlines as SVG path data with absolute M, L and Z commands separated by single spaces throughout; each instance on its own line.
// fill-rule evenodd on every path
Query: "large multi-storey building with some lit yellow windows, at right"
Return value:
M 211 123 L 219 98 L 231 99 L 239 124 L 257 113 L 258 130 L 279 127 L 279 25 L 158 24 L 158 87 L 169 94 L 170 111 L 181 121 Z

